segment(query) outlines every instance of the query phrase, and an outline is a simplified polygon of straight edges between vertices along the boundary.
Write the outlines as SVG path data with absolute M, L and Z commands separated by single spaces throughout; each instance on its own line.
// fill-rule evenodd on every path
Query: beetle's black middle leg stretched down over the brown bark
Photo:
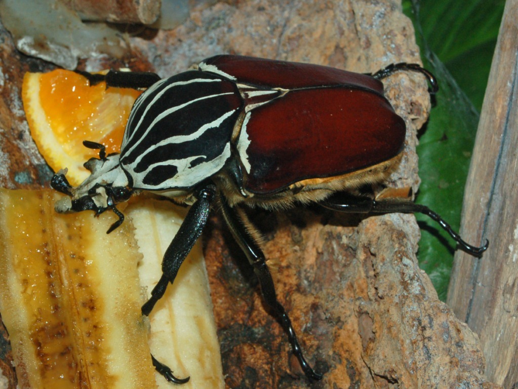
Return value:
M 270 270 L 266 265 L 263 251 L 244 226 L 244 215 L 239 215 L 234 208 L 231 208 L 228 205 L 225 198 L 223 198 L 223 196 L 221 197 L 221 208 L 225 221 L 232 234 L 234 235 L 234 238 L 239 243 L 239 246 L 246 254 L 248 261 L 254 268 L 255 275 L 257 276 L 261 285 L 261 293 L 263 295 L 264 301 L 286 332 L 292 347 L 293 354 L 297 357 L 300 367 L 303 369 L 306 377 L 310 381 L 320 380 L 322 378 L 322 374 L 315 372 L 306 361 L 303 351 L 300 348 L 300 344 L 298 343 L 291 320 L 284 310 L 284 307 L 277 300 L 274 280 L 271 278 Z

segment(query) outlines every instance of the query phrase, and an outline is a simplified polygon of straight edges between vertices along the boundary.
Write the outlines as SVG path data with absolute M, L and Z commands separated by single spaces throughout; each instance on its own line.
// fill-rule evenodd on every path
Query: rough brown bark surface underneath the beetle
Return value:
M 13 52 L 5 31 L 3 35 L 2 56 L 9 64 L 4 71 L 11 71 L 11 65 L 23 71 L 36 66 L 35 60 Z M 390 0 L 197 4 L 182 26 L 133 37 L 131 47 L 133 59 L 118 64 L 161 76 L 218 53 L 361 73 L 391 63 L 420 62 L 411 22 L 401 14 L 400 3 Z M 97 70 L 106 64 L 117 66 L 106 58 L 82 66 Z M 18 100 L 21 74 L 4 78 L 0 107 L 7 167 L 0 182 L 11 188 L 47 182 L 41 172 L 48 171 L 36 168 L 41 157 Z M 384 83 L 408 128 L 404 157 L 387 185 L 415 191 L 415 134 L 430 109 L 427 85 L 424 77 L 409 73 Z M 9 108 L 13 104 L 17 110 Z M 249 213 L 265 236 L 263 247 L 279 300 L 306 356 L 326 374 L 313 384 L 301 376 L 285 335 L 265 310 L 251 269 L 221 219 L 214 217 L 204 239 L 228 387 L 497 387 L 484 379 L 476 335 L 438 300 L 418 267 L 419 229 L 412 215 L 361 219 L 316 207 Z

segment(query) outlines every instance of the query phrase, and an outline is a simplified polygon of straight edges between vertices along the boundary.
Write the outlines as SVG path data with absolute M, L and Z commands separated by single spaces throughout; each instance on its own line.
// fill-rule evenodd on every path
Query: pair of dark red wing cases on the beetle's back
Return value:
M 312 178 L 335 177 L 390 160 L 406 126 L 368 75 L 326 66 L 217 56 L 204 61 L 258 89 L 285 94 L 251 111 L 246 189 L 272 193 Z

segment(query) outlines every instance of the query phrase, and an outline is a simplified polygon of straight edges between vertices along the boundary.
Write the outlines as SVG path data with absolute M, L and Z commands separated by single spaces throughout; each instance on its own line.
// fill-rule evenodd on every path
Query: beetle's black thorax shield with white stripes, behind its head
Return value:
M 243 102 L 234 82 L 200 71 L 161 80 L 133 106 L 121 165 L 135 189 L 191 188 L 219 171 Z

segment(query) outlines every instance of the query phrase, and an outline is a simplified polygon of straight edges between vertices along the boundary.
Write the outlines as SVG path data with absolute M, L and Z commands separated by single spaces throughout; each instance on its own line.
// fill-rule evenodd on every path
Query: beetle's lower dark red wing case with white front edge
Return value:
M 290 91 L 251 110 L 241 132 L 246 190 L 271 193 L 387 161 L 406 126 L 384 96 L 345 85 Z

